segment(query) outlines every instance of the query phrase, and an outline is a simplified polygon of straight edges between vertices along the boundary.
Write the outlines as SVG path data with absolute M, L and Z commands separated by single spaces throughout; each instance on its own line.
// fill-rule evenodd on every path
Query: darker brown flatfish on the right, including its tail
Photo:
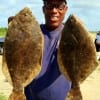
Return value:
M 82 100 L 80 83 L 97 66 L 96 50 L 88 30 L 74 15 L 70 15 L 62 31 L 58 63 L 61 72 L 72 82 L 67 100 Z

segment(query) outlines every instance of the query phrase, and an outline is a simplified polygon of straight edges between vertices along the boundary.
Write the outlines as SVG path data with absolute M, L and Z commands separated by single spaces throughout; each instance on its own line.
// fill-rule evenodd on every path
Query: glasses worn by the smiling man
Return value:
M 56 8 L 58 10 L 64 10 L 66 4 L 65 2 L 59 2 L 55 4 L 46 2 L 44 6 L 47 10 L 52 10 L 53 8 Z

